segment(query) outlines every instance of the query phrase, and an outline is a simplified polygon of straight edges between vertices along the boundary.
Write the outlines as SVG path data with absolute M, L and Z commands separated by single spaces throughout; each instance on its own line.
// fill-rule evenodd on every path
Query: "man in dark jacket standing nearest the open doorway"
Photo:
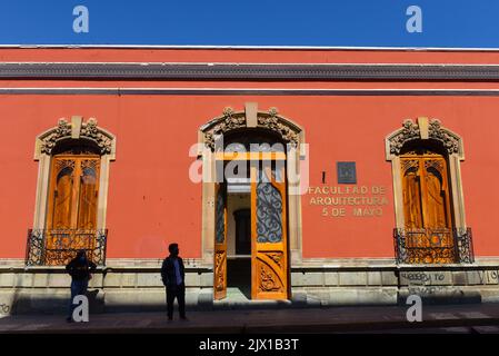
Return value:
M 164 287 L 167 287 L 168 320 L 173 319 L 174 298 L 179 303 L 180 318 L 186 320 L 186 274 L 183 261 L 179 257 L 179 245 L 170 244 L 168 250 L 170 251 L 170 256 L 164 258 L 161 266 L 161 278 Z

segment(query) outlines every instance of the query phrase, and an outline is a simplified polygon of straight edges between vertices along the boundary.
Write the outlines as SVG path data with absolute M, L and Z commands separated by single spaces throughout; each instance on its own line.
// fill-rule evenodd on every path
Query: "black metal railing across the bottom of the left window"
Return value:
M 86 250 L 96 265 L 106 265 L 108 230 L 29 229 L 26 250 L 27 266 L 63 266 L 78 250 Z

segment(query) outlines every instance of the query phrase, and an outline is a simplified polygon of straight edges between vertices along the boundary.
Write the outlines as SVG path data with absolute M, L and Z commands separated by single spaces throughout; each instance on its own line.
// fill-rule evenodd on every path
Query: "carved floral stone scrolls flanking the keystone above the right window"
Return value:
M 428 138 L 440 141 L 449 155 L 459 154 L 459 137 L 443 128 L 437 119 L 429 121 Z M 389 138 L 390 154 L 400 155 L 403 145 L 417 139 L 421 139 L 419 126 L 410 119 L 405 120 L 402 128 Z

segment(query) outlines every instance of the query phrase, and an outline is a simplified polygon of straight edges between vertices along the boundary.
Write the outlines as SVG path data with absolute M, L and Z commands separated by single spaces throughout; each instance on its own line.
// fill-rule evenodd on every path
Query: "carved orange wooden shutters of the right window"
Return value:
M 412 263 L 453 263 L 447 161 L 437 154 L 401 157 L 407 248 Z M 411 250 L 412 249 L 412 250 Z

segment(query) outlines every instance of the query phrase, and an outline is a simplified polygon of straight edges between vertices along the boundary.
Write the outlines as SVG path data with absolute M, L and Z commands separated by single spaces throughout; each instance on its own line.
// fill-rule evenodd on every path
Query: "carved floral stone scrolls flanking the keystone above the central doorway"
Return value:
M 231 130 L 246 127 L 247 119 L 244 111 L 236 112 L 230 107 L 224 108 L 221 117 L 211 120 L 201 129 L 204 135 L 204 145 L 213 150 L 217 137 Z M 290 127 L 290 125 L 278 115 L 276 108 L 270 108 L 267 112 L 259 111 L 257 116 L 257 127 L 275 131 L 279 134 L 286 142 L 291 144 L 293 147 L 298 146 L 299 129 Z

